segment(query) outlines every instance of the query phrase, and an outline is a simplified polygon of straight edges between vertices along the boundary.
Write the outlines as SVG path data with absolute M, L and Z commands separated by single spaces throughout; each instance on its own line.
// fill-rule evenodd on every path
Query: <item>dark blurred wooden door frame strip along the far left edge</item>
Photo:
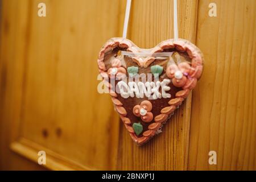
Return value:
M 22 74 L 27 40 L 28 1 L 1 1 L 0 169 L 42 170 L 10 151 L 18 137 Z

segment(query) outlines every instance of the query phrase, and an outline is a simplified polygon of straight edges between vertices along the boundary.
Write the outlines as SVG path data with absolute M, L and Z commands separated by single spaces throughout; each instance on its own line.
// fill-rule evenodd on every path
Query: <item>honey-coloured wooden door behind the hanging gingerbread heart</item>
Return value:
M 178 1 L 179 35 L 204 53 L 203 77 L 138 147 L 97 92 L 98 51 L 122 35 L 126 1 L 2 0 L 0 169 L 255 170 L 256 2 L 216 0 L 210 17 L 211 2 Z M 173 1 L 133 1 L 127 38 L 151 48 L 172 37 Z

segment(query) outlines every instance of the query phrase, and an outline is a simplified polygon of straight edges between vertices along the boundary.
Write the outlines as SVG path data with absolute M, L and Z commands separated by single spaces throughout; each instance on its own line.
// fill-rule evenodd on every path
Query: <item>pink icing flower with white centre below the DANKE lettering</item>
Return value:
M 150 101 L 142 101 L 141 105 L 136 105 L 133 107 L 133 114 L 137 117 L 141 117 L 142 121 L 149 123 L 152 121 L 153 114 L 150 112 L 152 110 L 152 104 Z

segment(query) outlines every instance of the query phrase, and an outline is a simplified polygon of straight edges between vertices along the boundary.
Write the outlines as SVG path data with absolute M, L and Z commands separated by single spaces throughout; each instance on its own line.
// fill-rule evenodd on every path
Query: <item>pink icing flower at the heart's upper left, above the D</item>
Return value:
M 110 78 L 116 76 L 118 79 L 126 75 L 126 69 L 121 67 L 121 61 L 119 59 L 112 61 L 112 67 L 108 69 L 108 75 Z

